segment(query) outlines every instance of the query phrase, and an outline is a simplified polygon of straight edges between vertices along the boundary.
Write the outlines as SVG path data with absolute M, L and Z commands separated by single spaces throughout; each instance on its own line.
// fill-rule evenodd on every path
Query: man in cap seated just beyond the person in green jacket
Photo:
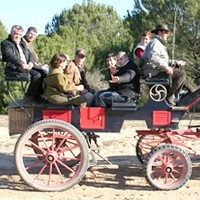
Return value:
M 84 92 L 88 102 L 87 105 L 91 106 L 94 99 L 94 90 L 91 89 L 86 79 L 86 66 L 84 65 L 86 56 L 85 49 L 78 48 L 75 52 L 74 60 L 69 62 L 64 73 L 70 82 L 76 85 L 78 90 Z

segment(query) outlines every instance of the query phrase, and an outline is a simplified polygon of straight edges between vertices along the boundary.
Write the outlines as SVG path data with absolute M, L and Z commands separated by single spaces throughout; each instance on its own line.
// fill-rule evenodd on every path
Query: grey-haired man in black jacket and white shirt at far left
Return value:
M 3 61 L 7 62 L 5 73 L 28 72 L 31 75 L 31 82 L 26 97 L 29 100 L 37 100 L 43 94 L 43 77 L 33 68 L 33 55 L 21 40 L 23 31 L 21 26 L 14 25 L 8 38 L 1 43 Z

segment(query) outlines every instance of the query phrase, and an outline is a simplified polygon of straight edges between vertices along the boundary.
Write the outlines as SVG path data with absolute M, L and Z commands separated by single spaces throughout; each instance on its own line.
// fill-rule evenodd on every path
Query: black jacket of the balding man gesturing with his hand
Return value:
M 133 61 L 129 60 L 125 66 L 119 67 L 119 71 L 114 76 L 119 76 L 120 81 L 110 83 L 109 90 L 128 97 L 135 96 L 135 93 L 140 92 L 140 75 Z

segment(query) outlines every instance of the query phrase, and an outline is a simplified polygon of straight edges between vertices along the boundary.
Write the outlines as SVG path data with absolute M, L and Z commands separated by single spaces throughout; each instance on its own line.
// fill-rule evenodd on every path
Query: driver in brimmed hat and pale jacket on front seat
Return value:
M 172 78 L 172 85 L 168 88 L 167 102 L 170 106 L 175 106 L 173 94 L 180 91 L 186 82 L 186 73 L 184 70 L 172 68 L 169 66 L 169 56 L 167 53 L 167 38 L 169 29 L 166 24 L 157 25 L 151 31 L 155 33 L 152 40 L 148 43 L 142 55 L 141 70 L 144 77 L 167 77 Z

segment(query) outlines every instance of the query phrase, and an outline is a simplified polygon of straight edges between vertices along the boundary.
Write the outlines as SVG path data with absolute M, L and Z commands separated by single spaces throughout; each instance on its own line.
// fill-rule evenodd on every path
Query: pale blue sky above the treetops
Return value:
M 22 25 L 25 31 L 35 26 L 40 34 L 44 33 L 45 25 L 52 21 L 55 14 L 71 9 L 74 4 L 82 4 L 83 0 L 0 0 L 0 21 L 10 32 L 12 25 Z M 87 0 L 86 0 L 87 2 Z M 133 0 L 93 0 L 95 3 L 111 5 L 123 18 L 127 10 L 133 10 Z

